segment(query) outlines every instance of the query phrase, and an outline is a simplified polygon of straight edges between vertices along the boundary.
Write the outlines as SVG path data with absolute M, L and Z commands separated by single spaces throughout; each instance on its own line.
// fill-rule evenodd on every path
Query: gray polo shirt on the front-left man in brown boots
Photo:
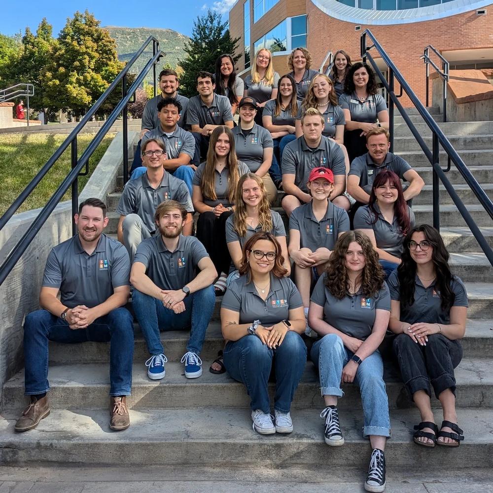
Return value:
M 69 308 L 104 303 L 118 286 L 128 286 L 130 259 L 125 246 L 102 234 L 88 255 L 79 235 L 52 248 L 44 268 L 42 285 L 60 289 L 60 301 Z

